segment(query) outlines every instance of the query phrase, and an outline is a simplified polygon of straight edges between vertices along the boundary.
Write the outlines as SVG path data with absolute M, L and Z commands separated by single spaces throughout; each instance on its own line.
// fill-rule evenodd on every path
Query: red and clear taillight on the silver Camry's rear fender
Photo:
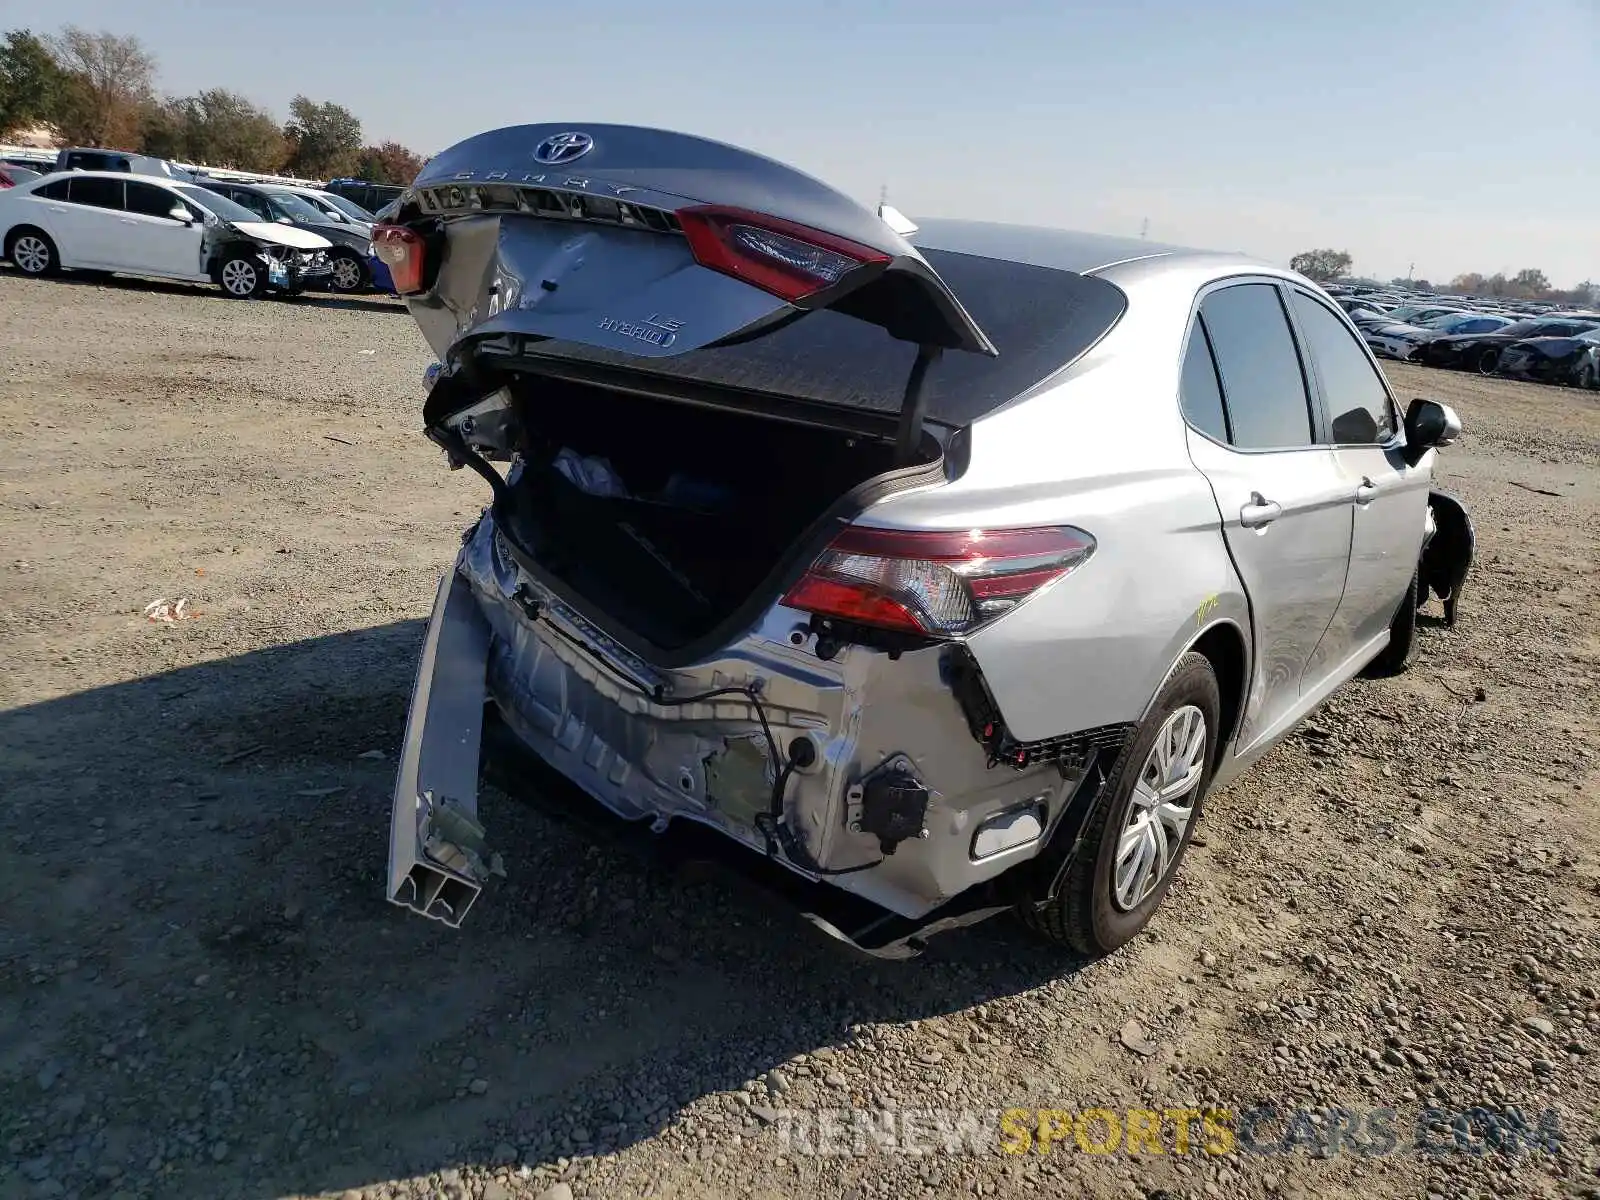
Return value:
M 818 555 L 784 603 L 806 613 L 928 637 L 968 634 L 1094 552 L 1083 530 L 909 531 L 851 526 Z

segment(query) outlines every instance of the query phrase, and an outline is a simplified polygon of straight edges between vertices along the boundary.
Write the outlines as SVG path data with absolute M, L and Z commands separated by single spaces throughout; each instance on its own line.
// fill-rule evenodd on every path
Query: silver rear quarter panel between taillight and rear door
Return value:
M 962 478 L 896 496 L 866 518 L 909 528 L 1075 525 L 1094 536 L 1083 566 L 970 638 L 1018 739 L 1136 722 L 1206 627 L 1250 629 L 1216 499 L 1189 461 L 1178 408 L 1189 309 L 1214 274 L 1166 272 L 1130 288 L 1128 312 L 1098 347 L 971 427 Z

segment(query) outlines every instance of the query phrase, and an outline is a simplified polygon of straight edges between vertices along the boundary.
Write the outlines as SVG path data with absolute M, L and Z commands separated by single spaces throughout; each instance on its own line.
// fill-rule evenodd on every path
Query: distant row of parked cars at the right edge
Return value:
M 1371 293 L 1331 291 L 1379 357 L 1600 389 L 1600 312 L 1530 314 L 1454 298 L 1387 306 Z

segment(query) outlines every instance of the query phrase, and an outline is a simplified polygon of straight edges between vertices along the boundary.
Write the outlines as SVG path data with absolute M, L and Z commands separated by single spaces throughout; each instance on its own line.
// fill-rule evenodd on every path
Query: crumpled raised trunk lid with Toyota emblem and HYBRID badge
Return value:
M 682 133 L 483 133 L 427 163 L 395 222 L 408 245 L 379 227 L 379 253 L 402 267 L 411 312 L 448 368 L 480 352 L 645 366 L 819 310 L 930 358 L 995 354 L 883 219 L 794 168 Z M 421 270 L 406 288 L 411 251 Z

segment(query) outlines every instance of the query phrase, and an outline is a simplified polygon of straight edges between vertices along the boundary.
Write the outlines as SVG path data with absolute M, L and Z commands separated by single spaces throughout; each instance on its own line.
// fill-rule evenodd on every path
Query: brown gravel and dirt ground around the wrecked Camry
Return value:
M 384 902 L 482 501 L 426 362 L 389 304 L 0 275 L 0 1195 L 1600 1197 L 1600 397 L 1397 368 L 1467 424 L 1461 624 L 1214 797 L 1123 954 L 992 922 L 886 965 L 493 794 L 469 926 Z M 1290 1152 L 813 1155 L 786 1115 L 1258 1104 Z M 1477 1104 L 1558 1147 L 1413 1149 Z M 1318 1155 L 1328 1106 L 1398 1146 Z

